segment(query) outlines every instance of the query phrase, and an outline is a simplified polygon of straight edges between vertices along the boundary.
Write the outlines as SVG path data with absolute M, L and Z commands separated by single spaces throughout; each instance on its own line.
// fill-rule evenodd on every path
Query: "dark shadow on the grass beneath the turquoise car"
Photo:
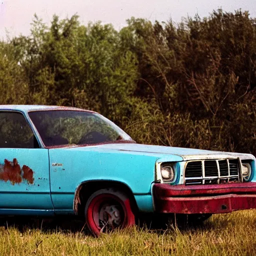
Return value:
M 167 231 L 179 232 L 196 232 L 198 230 L 217 229 L 218 226 L 223 228 L 227 225 L 225 219 L 220 219 L 217 222 L 212 221 L 211 217 L 205 221 L 196 221 L 188 223 L 185 218 L 175 218 L 175 216 L 165 218 L 161 216 L 140 216 L 136 223 L 138 228 L 162 234 Z M 82 218 L 73 216 L 56 216 L 56 217 L 27 217 L 27 216 L 7 216 L 0 217 L 1 228 L 17 228 L 20 232 L 26 232 L 28 229 L 39 229 L 43 232 L 61 231 L 63 233 L 83 232 L 85 235 L 90 235 L 86 227 L 85 221 Z

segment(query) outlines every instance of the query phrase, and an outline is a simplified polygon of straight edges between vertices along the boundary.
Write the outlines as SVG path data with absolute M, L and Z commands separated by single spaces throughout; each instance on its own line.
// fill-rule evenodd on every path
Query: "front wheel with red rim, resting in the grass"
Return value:
M 114 188 L 94 192 L 86 202 L 84 213 L 86 224 L 95 236 L 135 224 L 129 197 Z

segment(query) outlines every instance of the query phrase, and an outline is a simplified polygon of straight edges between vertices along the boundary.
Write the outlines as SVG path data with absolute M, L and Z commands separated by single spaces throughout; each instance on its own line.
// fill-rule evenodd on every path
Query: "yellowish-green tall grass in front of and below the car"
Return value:
M 99 238 L 43 223 L 2 226 L 0 255 L 256 255 L 256 210 L 213 215 L 198 228 L 132 227 Z

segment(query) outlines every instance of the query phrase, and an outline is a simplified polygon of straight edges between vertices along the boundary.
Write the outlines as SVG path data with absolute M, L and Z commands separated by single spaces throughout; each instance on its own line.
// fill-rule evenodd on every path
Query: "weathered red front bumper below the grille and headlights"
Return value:
M 224 213 L 256 208 L 256 182 L 217 185 L 153 184 L 156 212 Z

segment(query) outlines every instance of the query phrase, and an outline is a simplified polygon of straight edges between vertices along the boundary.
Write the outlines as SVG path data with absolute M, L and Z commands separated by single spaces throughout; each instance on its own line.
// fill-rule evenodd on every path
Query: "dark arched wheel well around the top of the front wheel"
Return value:
M 84 216 L 85 204 L 92 193 L 99 189 L 113 187 L 123 191 L 131 200 L 133 212 L 138 211 L 137 203 L 131 189 L 124 183 L 109 180 L 91 180 L 79 185 L 75 191 L 73 210 L 76 215 Z

